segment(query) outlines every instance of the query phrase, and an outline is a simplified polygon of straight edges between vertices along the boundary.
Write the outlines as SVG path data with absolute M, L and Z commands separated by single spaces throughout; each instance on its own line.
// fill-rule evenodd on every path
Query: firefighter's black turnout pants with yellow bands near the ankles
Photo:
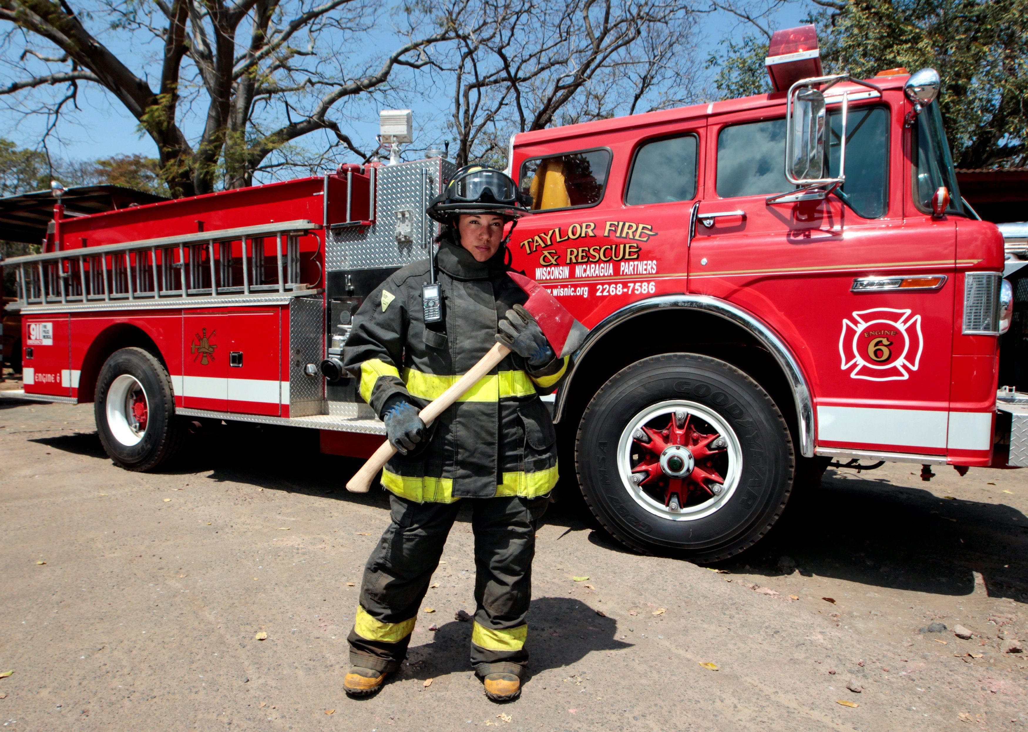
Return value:
M 347 638 L 354 665 L 380 671 L 399 667 L 446 536 L 465 500 L 473 507 L 475 534 L 477 608 L 471 663 L 482 677 L 498 671 L 524 675 L 531 560 L 549 496 L 416 503 L 392 495 L 390 525 L 364 568 L 357 620 Z

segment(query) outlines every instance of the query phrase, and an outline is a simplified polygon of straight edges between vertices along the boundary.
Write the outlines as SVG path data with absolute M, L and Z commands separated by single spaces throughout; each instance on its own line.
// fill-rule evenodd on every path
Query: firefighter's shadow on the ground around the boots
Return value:
M 408 651 L 409 664 L 404 665 L 402 675 L 430 679 L 470 670 L 471 628 L 470 622 L 456 620 L 440 625 L 430 633 L 431 643 Z M 632 644 L 615 640 L 617 629 L 616 620 L 597 615 L 581 601 L 571 598 L 534 600 L 528 615 L 528 670 L 539 673 L 562 668 L 593 651 L 631 648 Z

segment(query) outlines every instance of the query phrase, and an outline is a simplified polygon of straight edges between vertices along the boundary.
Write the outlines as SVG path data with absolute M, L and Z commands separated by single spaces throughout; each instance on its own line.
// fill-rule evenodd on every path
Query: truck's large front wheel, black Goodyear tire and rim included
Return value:
M 576 466 L 586 503 L 621 543 L 709 563 L 770 530 L 795 458 L 785 420 L 756 381 L 714 358 L 668 353 L 596 392 Z

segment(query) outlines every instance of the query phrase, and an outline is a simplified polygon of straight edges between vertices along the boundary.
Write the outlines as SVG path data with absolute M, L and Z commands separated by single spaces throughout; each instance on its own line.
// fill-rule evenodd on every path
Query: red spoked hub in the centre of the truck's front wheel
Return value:
M 644 434 L 640 436 L 636 432 L 633 440 L 639 448 L 639 460 L 632 468 L 632 474 L 642 475 L 642 479 L 636 485 L 663 492 L 665 506 L 671 505 L 673 501 L 681 507 L 686 505 L 690 497 L 705 501 L 717 495 L 715 490 L 721 493 L 720 489 L 711 488 L 725 484 L 720 465 L 726 454 L 726 447 L 724 440 L 718 447 L 713 446 L 721 437 L 717 431 L 712 434 L 699 431 L 693 416 L 688 413 L 681 420 L 674 414 L 670 415 L 664 429 L 640 427 L 640 430 Z M 686 448 L 692 454 L 693 469 L 686 475 L 670 475 L 661 465 L 661 456 L 672 446 Z

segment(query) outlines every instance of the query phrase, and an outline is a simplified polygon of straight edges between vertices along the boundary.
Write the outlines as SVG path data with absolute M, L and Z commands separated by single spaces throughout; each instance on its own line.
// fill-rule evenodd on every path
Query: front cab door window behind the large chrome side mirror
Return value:
M 829 177 L 839 174 L 842 115 L 829 113 Z M 846 183 L 839 198 L 865 219 L 885 215 L 888 202 L 889 119 L 884 107 L 850 110 L 846 123 Z M 733 124 L 718 136 L 718 195 L 766 196 L 795 187 L 785 180 L 785 120 Z

